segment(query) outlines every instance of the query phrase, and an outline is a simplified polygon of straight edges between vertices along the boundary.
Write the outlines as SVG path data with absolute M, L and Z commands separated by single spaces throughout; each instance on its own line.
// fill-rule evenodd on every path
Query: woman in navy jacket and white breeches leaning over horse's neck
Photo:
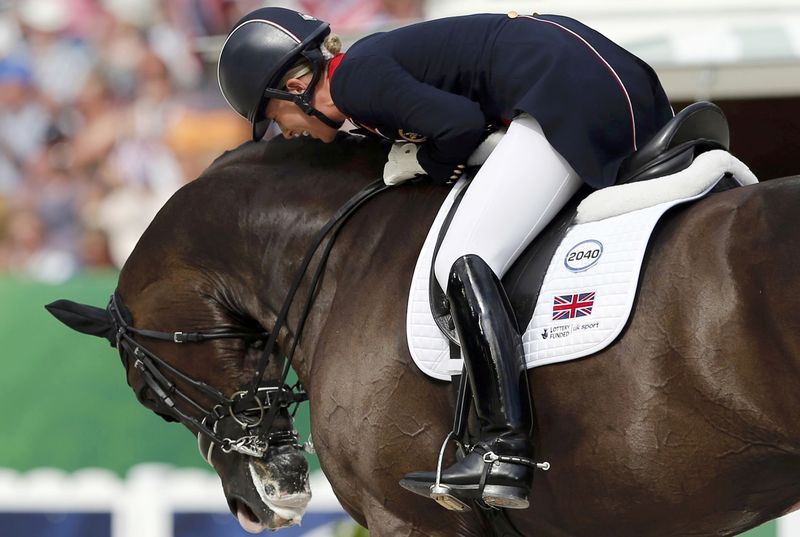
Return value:
M 583 24 L 554 15 L 482 14 L 370 35 L 347 51 L 328 24 L 282 8 L 240 20 L 219 83 L 262 138 L 331 142 L 345 119 L 398 142 L 387 184 L 458 179 L 495 129 L 507 133 L 472 179 L 434 272 L 446 290 L 480 426 L 441 484 L 461 500 L 525 508 L 532 413 L 522 341 L 500 277 L 578 190 L 615 182 L 622 160 L 671 117 L 653 70 Z M 491 459 L 491 455 L 486 460 Z M 487 466 L 488 465 L 488 466 Z M 488 475 L 484 469 L 488 468 Z M 430 495 L 433 472 L 402 484 Z

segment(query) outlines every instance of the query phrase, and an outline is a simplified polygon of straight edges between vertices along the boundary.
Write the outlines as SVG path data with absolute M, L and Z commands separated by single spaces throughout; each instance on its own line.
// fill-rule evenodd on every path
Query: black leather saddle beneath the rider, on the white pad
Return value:
M 697 155 L 713 149 L 727 151 L 729 146 L 728 121 L 722 110 L 707 101 L 691 104 L 676 114 L 647 144 L 623 161 L 617 184 L 645 181 L 677 173 L 688 168 Z M 732 186 L 735 186 L 735 183 L 724 182 L 724 186 L 721 184 L 719 189 Z M 503 277 L 503 286 L 516 314 L 518 326 L 525 327 L 530 322 L 550 259 L 572 223 L 578 204 L 591 192 L 589 187 L 579 190 Z M 459 201 L 460 199 L 453 204 L 442 226 L 434 256 L 438 252 L 439 244 L 444 238 Z M 433 268 L 431 268 L 429 289 L 433 318 L 442 332 L 455 341 L 449 304 L 433 274 Z

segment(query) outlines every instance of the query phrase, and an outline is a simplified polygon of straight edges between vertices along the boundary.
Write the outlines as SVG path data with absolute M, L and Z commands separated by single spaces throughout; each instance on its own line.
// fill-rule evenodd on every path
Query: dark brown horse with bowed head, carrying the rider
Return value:
M 125 265 L 118 289 L 133 325 L 269 330 L 311 237 L 379 177 L 384 158 L 350 138 L 245 144 L 222 156 L 165 205 Z M 411 363 L 404 326 L 416 256 L 445 195 L 402 186 L 353 216 L 295 357 L 322 469 L 373 536 L 484 533 L 474 513 L 398 485 L 433 469 L 452 419 L 450 388 Z M 511 514 L 521 533 L 733 535 L 800 501 L 798 210 L 796 177 L 670 213 L 616 344 L 530 372 L 537 453 L 552 468 L 537 474 L 531 508 Z M 291 310 L 280 346 L 299 314 Z M 148 345 L 226 393 L 253 374 L 241 344 Z M 133 367 L 128 382 L 141 391 Z M 264 498 L 274 500 L 276 473 L 295 481 L 284 496 L 300 494 L 304 469 L 259 463 L 265 494 L 246 477 L 251 457 L 216 452 L 212 462 L 250 529 L 294 520 Z

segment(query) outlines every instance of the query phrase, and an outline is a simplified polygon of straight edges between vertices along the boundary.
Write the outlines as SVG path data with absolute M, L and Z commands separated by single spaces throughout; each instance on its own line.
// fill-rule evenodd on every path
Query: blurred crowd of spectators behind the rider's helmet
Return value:
M 119 268 L 156 211 L 248 137 L 218 40 L 256 0 L 0 0 L 0 276 Z M 338 32 L 421 0 L 269 2 Z

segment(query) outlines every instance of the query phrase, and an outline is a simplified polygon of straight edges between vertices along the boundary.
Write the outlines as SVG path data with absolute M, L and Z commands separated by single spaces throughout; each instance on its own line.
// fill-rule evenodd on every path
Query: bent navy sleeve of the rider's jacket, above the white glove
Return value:
M 331 90 L 337 107 L 356 121 L 424 136 L 417 160 L 436 183 L 459 177 L 484 136 L 478 103 L 419 82 L 386 56 L 343 63 Z

